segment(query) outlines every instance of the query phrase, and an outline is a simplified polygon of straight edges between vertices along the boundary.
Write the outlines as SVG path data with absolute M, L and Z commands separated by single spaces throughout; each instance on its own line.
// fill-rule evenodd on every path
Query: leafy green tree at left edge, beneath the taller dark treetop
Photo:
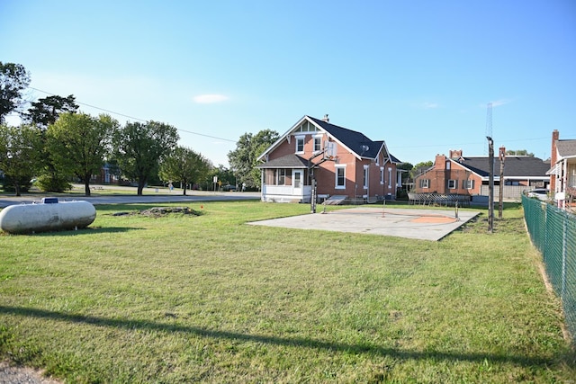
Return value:
M 16 196 L 28 188 L 40 166 L 40 135 L 27 125 L 8 127 L 0 124 L 0 170 L 14 185 Z

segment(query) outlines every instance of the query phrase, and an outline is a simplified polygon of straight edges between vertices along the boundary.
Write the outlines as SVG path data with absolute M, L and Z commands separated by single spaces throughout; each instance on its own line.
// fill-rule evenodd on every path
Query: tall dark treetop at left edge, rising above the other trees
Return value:
M 23 104 L 23 90 L 30 85 L 30 74 L 22 64 L 0 61 L 0 124 L 8 113 Z

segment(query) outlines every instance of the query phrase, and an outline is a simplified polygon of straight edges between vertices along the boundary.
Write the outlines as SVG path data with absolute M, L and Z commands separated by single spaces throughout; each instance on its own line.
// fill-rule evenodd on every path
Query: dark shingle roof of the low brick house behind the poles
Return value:
M 490 175 L 490 163 L 488 156 L 463 157 L 460 164 L 480 174 L 482 177 Z M 550 163 L 534 156 L 507 156 L 504 159 L 504 174 L 507 177 L 538 177 L 545 176 L 550 169 Z M 494 174 L 500 174 L 500 159 L 494 158 Z

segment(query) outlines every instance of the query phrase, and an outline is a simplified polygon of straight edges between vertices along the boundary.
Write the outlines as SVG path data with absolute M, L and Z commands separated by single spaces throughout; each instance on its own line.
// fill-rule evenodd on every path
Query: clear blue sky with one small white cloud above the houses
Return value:
M 576 138 L 573 0 L 0 0 L 0 15 L 0 61 L 30 71 L 31 99 L 166 122 L 214 165 L 305 114 L 413 165 L 487 155 L 488 103 L 496 147 L 547 158 L 553 129 Z

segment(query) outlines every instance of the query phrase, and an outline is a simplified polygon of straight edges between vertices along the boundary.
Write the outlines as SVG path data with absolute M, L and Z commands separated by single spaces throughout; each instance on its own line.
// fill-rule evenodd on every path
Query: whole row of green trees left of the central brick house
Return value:
M 76 178 L 90 195 L 90 181 L 107 165 L 111 174 L 136 183 L 142 194 L 150 181 L 180 182 L 209 189 L 213 176 L 220 183 L 244 183 L 260 187 L 256 158 L 278 138 L 265 129 L 241 136 L 229 151 L 231 169 L 211 161 L 190 147 L 177 144 L 175 127 L 158 121 L 119 121 L 108 114 L 91 116 L 79 112 L 74 95 L 50 95 L 24 105 L 23 91 L 30 74 L 20 64 L 0 62 L 0 174 L 16 195 L 30 188 L 31 180 L 45 192 L 63 192 Z M 22 123 L 9 126 L 5 118 L 18 112 Z

